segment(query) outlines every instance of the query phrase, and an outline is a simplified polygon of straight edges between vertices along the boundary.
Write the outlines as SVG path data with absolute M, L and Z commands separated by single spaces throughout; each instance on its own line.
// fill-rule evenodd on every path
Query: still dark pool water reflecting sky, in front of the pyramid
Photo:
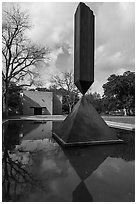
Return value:
M 3 125 L 3 201 L 134 201 L 134 142 L 62 149 L 58 124 Z

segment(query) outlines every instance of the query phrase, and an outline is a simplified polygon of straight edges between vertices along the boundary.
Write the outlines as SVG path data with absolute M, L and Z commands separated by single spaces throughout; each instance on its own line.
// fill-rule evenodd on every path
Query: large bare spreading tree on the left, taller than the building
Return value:
M 47 59 L 49 53 L 48 48 L 34 44 L 25 37 L 28 29 L 30 29 L 28 15 L 26 12 L 22 12 L 18 6 L 12 7 L 9 11 L 3 11 L 2 81 L 5 111 L 7 110 L 10 82 L 20 83 L 24 81 L 24 77 L 29 77 L 29 84 L 22 85 L 31 86 L 38 77 L 36 71 L 38 63 Z

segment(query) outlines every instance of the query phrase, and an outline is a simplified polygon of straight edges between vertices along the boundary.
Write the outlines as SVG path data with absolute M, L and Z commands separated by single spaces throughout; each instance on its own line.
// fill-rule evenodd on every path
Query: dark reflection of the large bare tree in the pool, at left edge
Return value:
M 30 173 L 31 153 L 16 148 L 21 143 L 22 131 L 22 123 L 12 121 L 3 126 L 3 201 L 16 201 L 21 192 L 30 186 L 43 188 L 40 181 L 34 179 Z

